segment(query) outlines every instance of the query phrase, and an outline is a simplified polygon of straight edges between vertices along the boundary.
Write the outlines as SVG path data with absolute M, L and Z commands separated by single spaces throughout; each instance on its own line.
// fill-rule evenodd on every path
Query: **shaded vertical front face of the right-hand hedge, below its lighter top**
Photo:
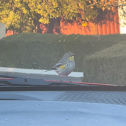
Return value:
M 126 57 L 91 59 L 84 62 L 85 82 L 126 86 Z

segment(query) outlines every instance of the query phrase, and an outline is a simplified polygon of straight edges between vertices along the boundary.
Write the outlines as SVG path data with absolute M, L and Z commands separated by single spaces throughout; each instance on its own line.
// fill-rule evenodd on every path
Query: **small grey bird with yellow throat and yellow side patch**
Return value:
M 62 59 L 56 63 L 52 69 L 55 70 L 59 76 L 67 77 L 75 69 L 74 54 L 72 52 L 65 53 Z M 60 81 L 62 80 L 60 79 Z M 70 82 L 72 81 L 70 80 Z

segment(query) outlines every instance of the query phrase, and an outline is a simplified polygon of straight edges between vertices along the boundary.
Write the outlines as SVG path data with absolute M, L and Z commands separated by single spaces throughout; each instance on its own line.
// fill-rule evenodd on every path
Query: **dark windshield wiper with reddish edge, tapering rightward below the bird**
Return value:
M 0 75 L 0 86 L 116 86 L 111 84 L 44 80 L 40 78 Z

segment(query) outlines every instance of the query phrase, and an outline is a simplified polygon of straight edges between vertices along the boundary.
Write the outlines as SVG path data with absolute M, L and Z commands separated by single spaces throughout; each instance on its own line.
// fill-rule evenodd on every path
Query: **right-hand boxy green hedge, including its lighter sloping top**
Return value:
M 84 81 L 126 86 L 126 41 L 85 57 Z

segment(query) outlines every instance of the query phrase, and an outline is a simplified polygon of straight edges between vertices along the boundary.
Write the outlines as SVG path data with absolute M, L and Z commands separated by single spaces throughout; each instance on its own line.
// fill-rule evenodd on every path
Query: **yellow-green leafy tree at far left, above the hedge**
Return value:
M 38 14 L 32 11 L 32 5 L 35 1 L 32 3 L 27 3 L 26 1 L 0 1 L 0 22 L 5 23 L 7 29 L 13 29 L 18 32 L 36 32 Z

